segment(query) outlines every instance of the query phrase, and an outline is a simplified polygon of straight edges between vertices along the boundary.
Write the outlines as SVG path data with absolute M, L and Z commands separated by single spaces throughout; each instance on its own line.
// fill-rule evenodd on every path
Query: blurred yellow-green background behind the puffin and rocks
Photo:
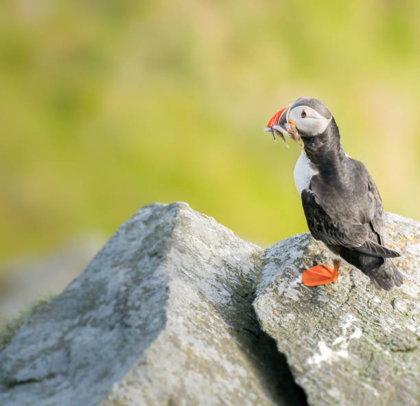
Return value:
M 262 128 L 322 99 L 386 210 L 420 219 L 420 2 L 0 5 L 0 258 L 187 201 L 268 246 L 307 231 L 299 147 Z

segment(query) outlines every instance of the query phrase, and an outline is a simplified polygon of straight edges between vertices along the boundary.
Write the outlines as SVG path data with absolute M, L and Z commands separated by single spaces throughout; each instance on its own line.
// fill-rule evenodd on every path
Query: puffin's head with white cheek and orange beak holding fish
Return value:
M 331 111 L 320 100 L 299 98 L 273 115 L 264 131 L 292 137 L 292 124 L 304 141 L 305 137 L 316 137 L 325 133 L 332 119 Z

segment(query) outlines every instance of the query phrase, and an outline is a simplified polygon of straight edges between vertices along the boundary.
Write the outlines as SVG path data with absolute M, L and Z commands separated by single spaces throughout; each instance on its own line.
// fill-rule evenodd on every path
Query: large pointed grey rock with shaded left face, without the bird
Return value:
M 304 405 L 251 306 L 261 253 L 186 203 L 143 207 L 0 353 L 0 404 Z

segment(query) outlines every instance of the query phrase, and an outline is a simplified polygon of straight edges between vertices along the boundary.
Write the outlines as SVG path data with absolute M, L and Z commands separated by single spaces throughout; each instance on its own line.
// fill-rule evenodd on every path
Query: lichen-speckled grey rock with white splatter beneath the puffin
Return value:
M 253 306 L 310 405 L 420 405 L 420 223 L 387 215 L 404 284 L 377 291 L 342 264 L 334 284 L 307 288 L 301 271 L 330 263 L 300 234 L 268 248 Z

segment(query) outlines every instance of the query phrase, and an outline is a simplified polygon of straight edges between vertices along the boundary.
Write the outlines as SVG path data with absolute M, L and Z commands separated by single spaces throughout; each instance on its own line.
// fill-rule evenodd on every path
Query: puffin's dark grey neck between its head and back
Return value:
M 314 137 L 303 136 L 302 139 L 305 153 L 321 177 L 327 180 L 345 179 L 346 155 L 341 146 L 340 131 L 334 117 L 322 134 Z

